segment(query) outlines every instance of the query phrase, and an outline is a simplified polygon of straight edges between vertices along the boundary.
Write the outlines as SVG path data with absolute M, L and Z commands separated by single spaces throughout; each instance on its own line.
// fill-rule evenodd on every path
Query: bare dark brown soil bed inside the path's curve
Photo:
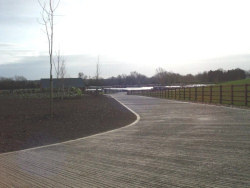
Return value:
M 54 100 L 0 98 L 0 153 L 81 138 L 116 129 L 136 117 L 106 96 Z

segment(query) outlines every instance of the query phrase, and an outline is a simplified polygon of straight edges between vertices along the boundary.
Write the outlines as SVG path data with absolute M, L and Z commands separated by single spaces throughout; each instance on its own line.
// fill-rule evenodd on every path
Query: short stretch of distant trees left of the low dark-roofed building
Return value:
M 39 81 L 30 81 L 24 76 L 15 76 L 13 78 L 0 77 L 0 90 L 31 89 L 39 87 Z

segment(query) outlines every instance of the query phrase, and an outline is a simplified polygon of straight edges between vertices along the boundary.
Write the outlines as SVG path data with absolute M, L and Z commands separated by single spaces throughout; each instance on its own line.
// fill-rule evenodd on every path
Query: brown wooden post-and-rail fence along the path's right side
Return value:
M 132 90 L 128 91 L 128 94 L 202 103 L 250 106 L 249 84 Z

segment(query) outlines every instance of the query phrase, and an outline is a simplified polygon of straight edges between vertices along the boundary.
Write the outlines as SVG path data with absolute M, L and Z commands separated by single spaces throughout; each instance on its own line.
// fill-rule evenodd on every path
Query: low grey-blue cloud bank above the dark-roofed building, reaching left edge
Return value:
M 79 72 L 93 77 L 96 72 L 97 57 L 90 55 L 69 55 L 66 59 L 66 76 L 77 77 Z M 107 57 L 100 58 L 100 76 L 108 78 L 119 74 L 129 74 L 137 71 L 142 74 L 152 75 L 155 68 L 127 64 L 124 62 L 113 61 Z M 22 57 L 15 63 L 0 64 L 0 77 L 13 77 L 22 75 L 30 80 L 49 77 L 49 58 L 48 56 L 28 56 Z

